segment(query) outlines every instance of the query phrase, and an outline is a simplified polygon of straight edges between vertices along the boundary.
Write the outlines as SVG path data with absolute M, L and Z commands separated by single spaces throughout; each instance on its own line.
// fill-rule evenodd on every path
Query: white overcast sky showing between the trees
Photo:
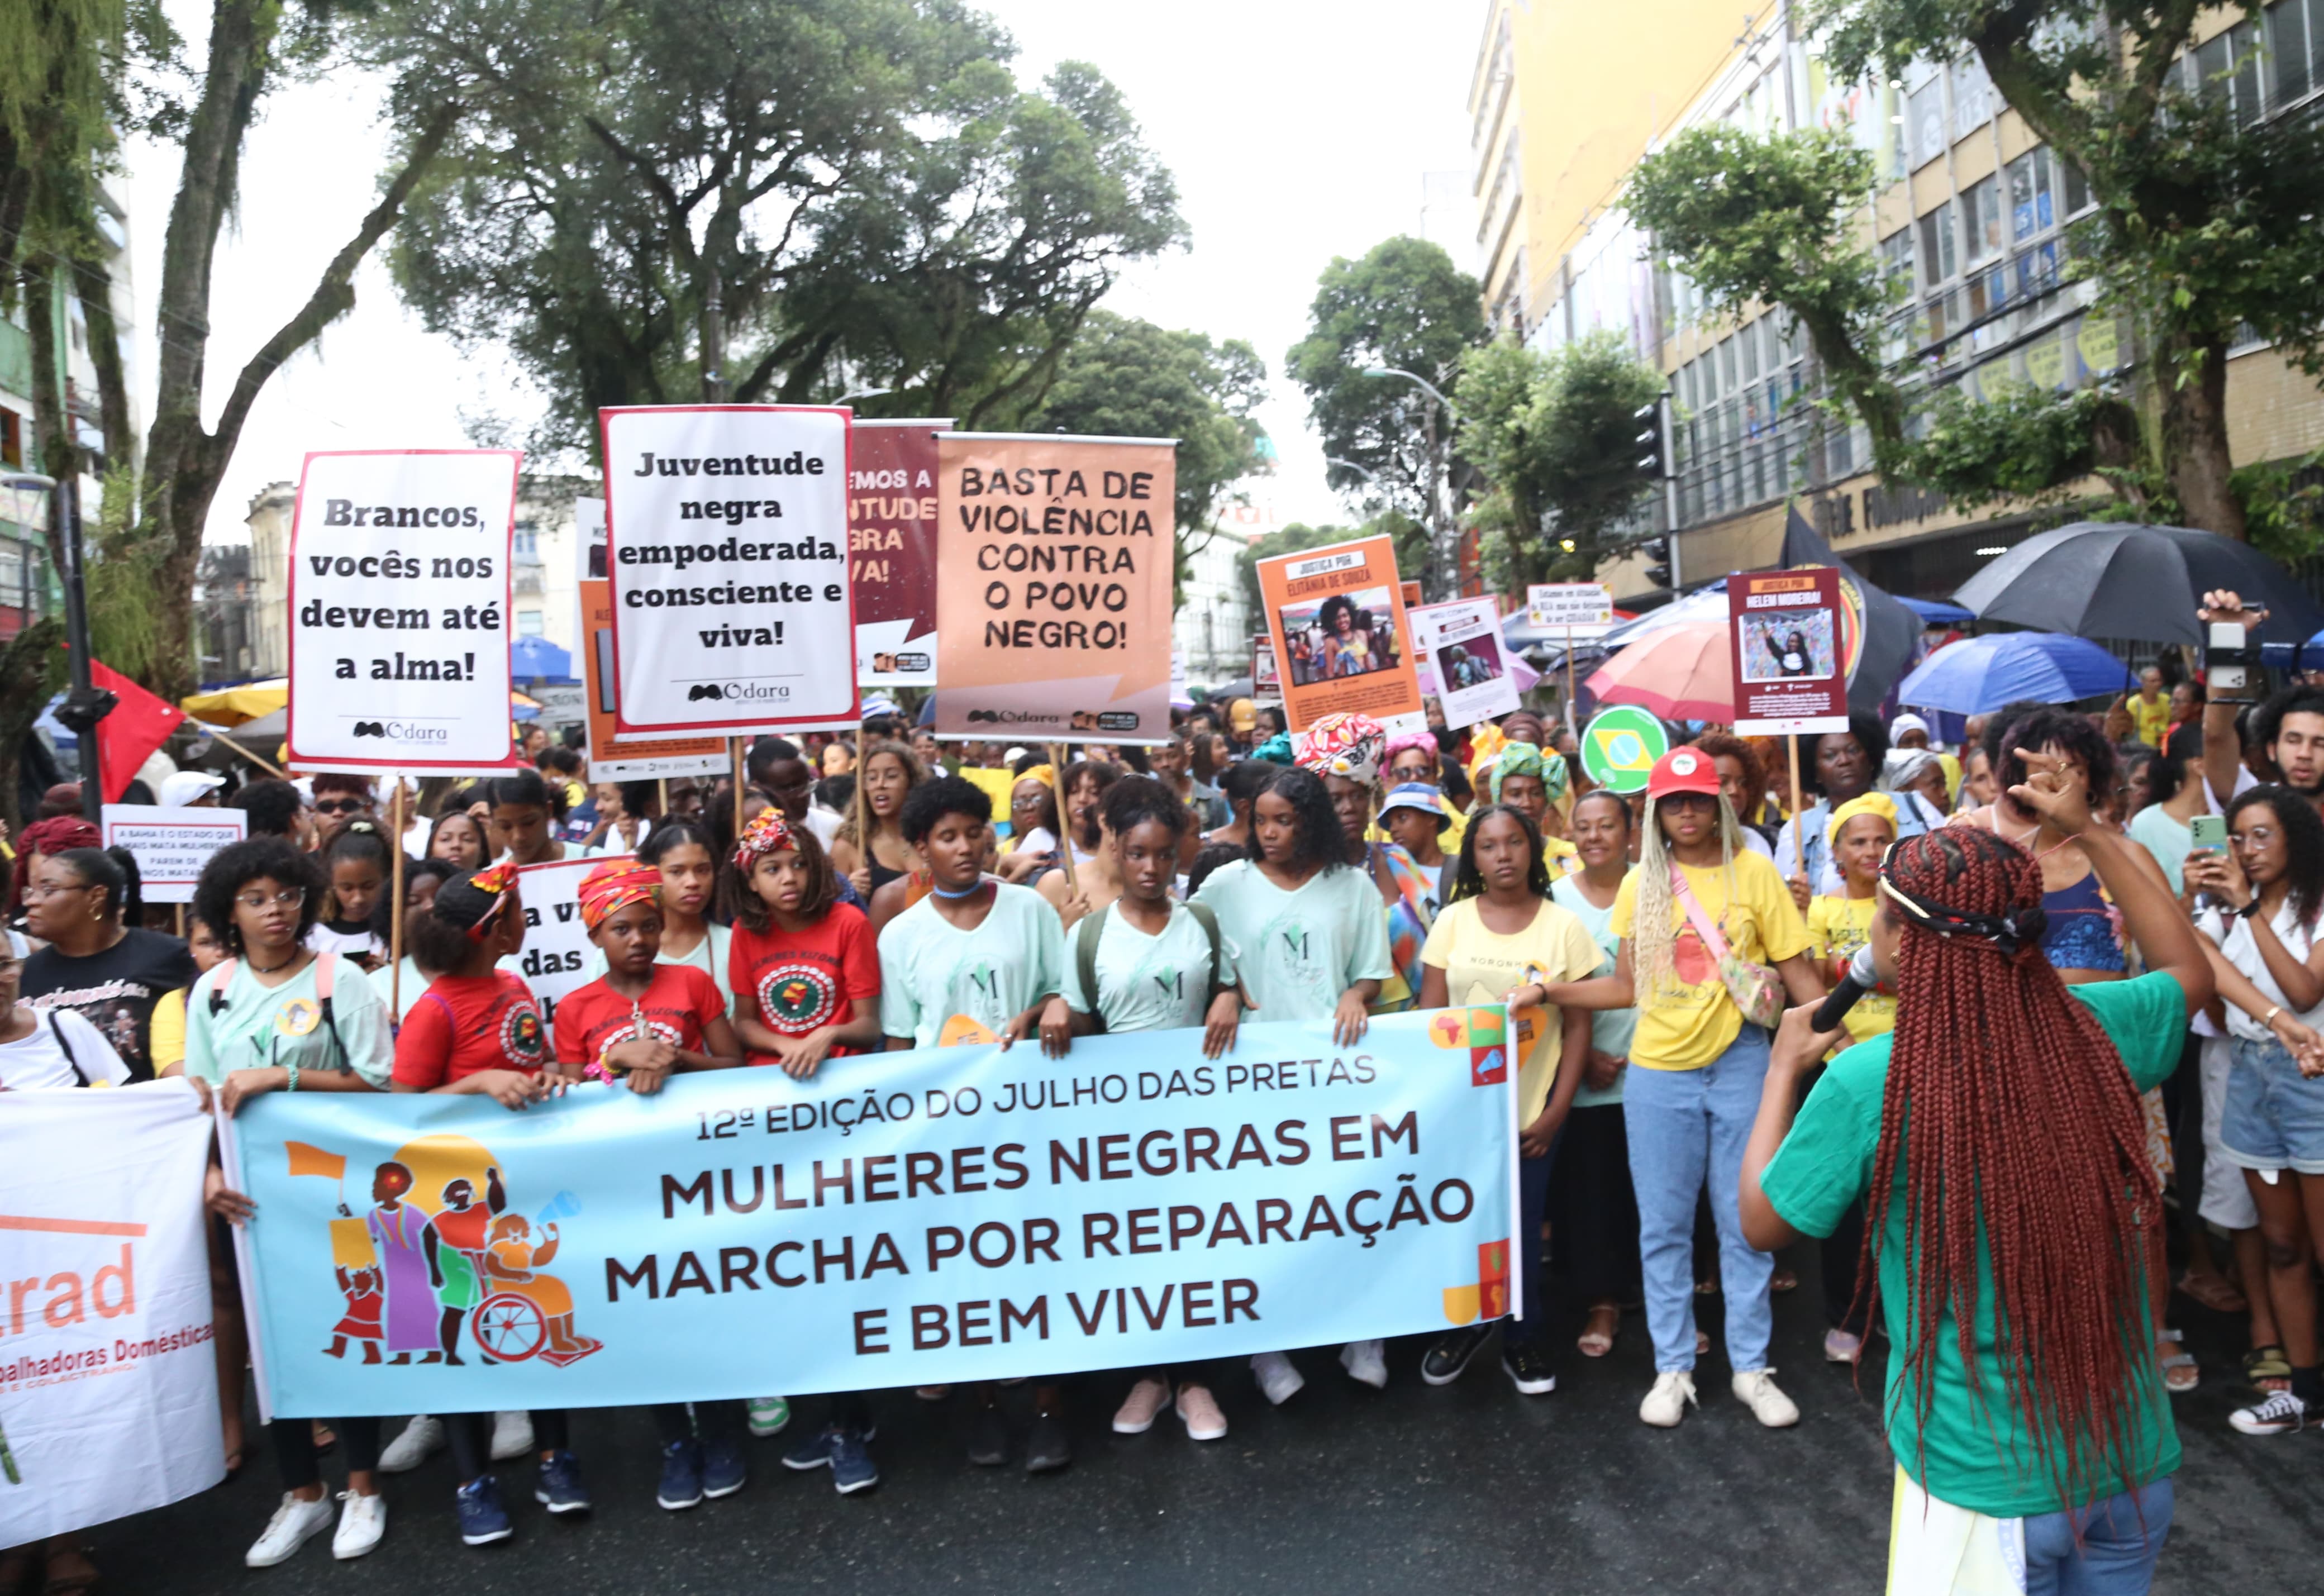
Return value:
M 1315 276 L 1332 256 L 1418 232 L 1422 172 L 1466 170 L 1462 102 L 1483 0 L 1181 0 L 1164 12 L 992 0 L 988 9 L 1016 35 L 1027 84 L 1057 60 L 1097 63 L 1178 177 L 1192 246 L 1134 267 L 1106 307 L 1250 339 L 1276 376 L 1262 411 L 1283 455 L 1269 488 L 1276 513 L 1343 518 L 1322 483 L 1304 397 L 1281 379 L 1283 353 L 1306 330 Z M 209 7 L 172 0 L 170 12 L 200 60 Z M 344 79 L 267 100 L 244 153 L 239 211 L 218 246 L 205 418 L 372 204 L 383 156 L 376 112 L 376 91 Z M 174 186 L 174 149 L 130 151 L 123 197 L 146 418 L 151 307 Z M 467 441 L 462 411 L 525 420 L 530 409 L 490 355 L 462 355 L 423 332 L 374 253 L 356 279 L 353 314 L 267 383 L 211 506 L 209 539 L 239 541 L 251 495 L 293 481 L 311 448 L 456 448 Z

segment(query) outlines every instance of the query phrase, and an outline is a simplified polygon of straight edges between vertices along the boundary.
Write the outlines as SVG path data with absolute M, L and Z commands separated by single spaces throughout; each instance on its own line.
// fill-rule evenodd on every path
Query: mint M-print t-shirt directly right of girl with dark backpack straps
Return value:
M 1325 869 L 1285 892 L 1250 860 L 1220 864 L 1195 894 L 1262 1020 L 1329 1020 L 1357 980 L 1387 980 L 1387 906 L 1371 871 Z

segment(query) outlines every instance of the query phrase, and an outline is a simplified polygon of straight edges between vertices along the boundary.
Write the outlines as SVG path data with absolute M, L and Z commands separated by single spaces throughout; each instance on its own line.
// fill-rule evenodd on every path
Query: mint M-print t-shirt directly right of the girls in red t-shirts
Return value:
M 934 1048 L 944 1022 L 962 1015 L 999 1034 L 1064 985 L 1064 927 L 1032 887 L 995 883 L 992 908 L 974 932 L 937 913 L 937 899 L 890 920 L 878 934 L 878 1027 Z

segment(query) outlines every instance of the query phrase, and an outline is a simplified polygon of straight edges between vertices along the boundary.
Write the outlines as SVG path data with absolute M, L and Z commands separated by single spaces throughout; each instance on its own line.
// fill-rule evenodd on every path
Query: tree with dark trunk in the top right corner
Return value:
M 2226 441 L 2226 351 L 2252 328 L 2324 374 L 2324 123 L 2238 116 L 2187 86 L 2203 0 L 1820 0 L 1843 77 L 1975 51 L 2096 200 L 2075 272 L 2133 316 L 2164 476 L 2189 525 L 2250 530 Z M 2243 7 L 2254 19 L 2257 2 Z M 2245 107 L 2247 112 L 2254 107 Z

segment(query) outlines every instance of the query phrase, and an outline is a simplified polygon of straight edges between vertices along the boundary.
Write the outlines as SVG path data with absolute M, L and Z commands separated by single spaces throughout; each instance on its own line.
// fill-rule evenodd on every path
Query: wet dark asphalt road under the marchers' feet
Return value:
M 1713 1345 L 1701 1412 L 1676 1431 L 1636 1419 L 1652 1382 L 1631 1315 L 1606 1359 L 1559 1338 L 1559 1389 L 1525 1399 L 1480 1357 L 1452 1387 L 1420 1382 L 1422 1338 L 1390 1343 L 1385 1392 L 1357 1387 L 1332 1350 L 1299 1354 L 1308 1387 L 1269 1408 L 1248 1373 L 1222 1380 L 1234 1431 L 1197 1445 L 1174 1417 L 1113 1436 L 1127 1375 L 1083 1375 L 1078 1457 L 1055 1475 L 971 1468 L 967 1403 L 890 1392 L 874 1401 L 881 1487 L 841 1498 L 825 1473 L 779 1464 L 790 1433 L 753 1443 L 748 1487 L 690 1512 L 653 1503 L 658 1459 L 644 1410 L 574 1417 L 597 1510 L 551 1522 L 530 1464 L 504 1464 L 516 1538 L 467 1550 L 453 1533 L 451 1464 L 388 1478 L 388 1538 L 335 1563 L 321 1536 L 279 1568 L 244 1547 L 274 1508 L 272 1454 L 242 1478 L 91 1531 L 109 1591 L 372 1591 L 588 1596 L 595 1591 L 1878 1591 L 1892 1466 L 1873 1406 L 1820 1359 L 1813 1250 L 1778 1299 L 1776 1354 L 1803 1419 L 1764 1431 L 1727 1394 Z M 2319 1589 L 2324 1433 L 2250 1440 L 2226 1426 L 2245 1399 L 2229 1324 L 2178 1299 L 2203 1389 L 2178 1399 L 2187 1464 L 2157 1591 Z M 1715 1299 L 1706 1327 L 1717 1338 Z M 1878 1345 L 1878 1343 L 1875 1343 Z M 683 1347 L 672 1347 L 683 1357 Z M 1030 1392 L 1009 1392 L 1025 1422 Z M 799 1399 L 795 1429 L 823 1403 Z M 390 1424 L 393 1436 L 397 1424 Z M 1023 1431 L 1020 1431 L 1023 1436 Z M 332 1478 L 339 1459 L 325 1459 Z M 518 1501 L 521 1498 L 521 1501 Z M 2301 1573 L 2305 1570 L 2305 1573 Z

